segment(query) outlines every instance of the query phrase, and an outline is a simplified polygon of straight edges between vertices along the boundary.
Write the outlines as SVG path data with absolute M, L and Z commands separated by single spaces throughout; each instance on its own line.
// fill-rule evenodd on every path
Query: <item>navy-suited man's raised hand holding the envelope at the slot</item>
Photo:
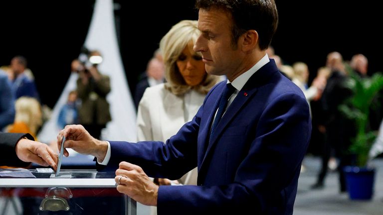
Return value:
M 58 133 L 57 146 L 59 150 L 64 136 L 64 155 L 66 157 L 69 156 L 69 152 L 65 148 L 71 148 L 78 153 L 93 155 L 101 161 L 104 160 L 108 143 L 92 137 L 82 125 L 66 125 Z

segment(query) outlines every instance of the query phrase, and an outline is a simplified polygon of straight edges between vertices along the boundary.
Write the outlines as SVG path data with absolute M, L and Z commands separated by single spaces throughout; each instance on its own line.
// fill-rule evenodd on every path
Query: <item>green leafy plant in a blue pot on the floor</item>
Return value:
M 339 108 L 348 118 L 354 120 L 356 126 L 355 137 L 349 147 L 349 153 L 355 156 L 356 166 L 347 166 L 344 171 L 350 198 L 371 199 L 375 169 L 368 167 L 368 161 L 376 134 L 369 130 L 368 125 L 370 107 L 378 92 L 383 89 L 383 75 L 375 73 L 372 77 L 362 78 L 352 70 L 349 74 L 350 79 L 346 85 L 353 95 Z

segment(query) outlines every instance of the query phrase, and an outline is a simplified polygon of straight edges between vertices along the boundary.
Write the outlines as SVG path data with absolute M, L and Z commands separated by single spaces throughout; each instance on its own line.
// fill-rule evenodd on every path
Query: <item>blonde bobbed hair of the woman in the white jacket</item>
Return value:
M 186 84 L 182 77 L 178 67 L 177 60 L 181 55 L 185 47 L 191 44 L 191 53 L 194 52 L 192 47 L 196 42 L 200 31 L 197 28 L 197 21 L 195 20 L 183 20 L 174 25 L 170 31 L 161 39 L 160 49 L 163 54 L 165 63 L 165 78 L 167 83 L 165 89 L 169 90 L 177 96 L 182 96 L 189 90 L 194 89 L 201 94 L 207 94 L 207 92 L 217 83 L 218 76 L 209 75 L 206 73 L 203 81 L 194 87 Z

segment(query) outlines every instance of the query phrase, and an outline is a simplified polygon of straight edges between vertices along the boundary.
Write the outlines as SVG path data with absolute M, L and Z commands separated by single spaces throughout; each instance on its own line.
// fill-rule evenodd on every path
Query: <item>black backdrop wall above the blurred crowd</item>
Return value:
M 197 19 L 197 11 L 194 0 L 114 2 L 121 55 L 133 91 L 162 36 L 182 19 Z M 363 53 L 370 61 L 370 73 L 383 71 L 377 5 L 346 0 L 276 3 L 280 22 L 272 46 L 285 63 L 306 62 L 313 78 L 327 53 L 339 51 L 346 60 Z M 0 2 L 0 66 L 24 55 L 41 102 L 51 108 L 70 75 L 70 62 L 84 43 L 93 4 L 94 0 Z

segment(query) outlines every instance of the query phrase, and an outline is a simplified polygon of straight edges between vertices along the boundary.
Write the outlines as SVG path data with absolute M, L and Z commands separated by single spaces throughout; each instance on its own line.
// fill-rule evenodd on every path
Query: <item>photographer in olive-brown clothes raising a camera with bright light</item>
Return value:
M 106 96 L 110 92 L 109 76 L 101 74 L 97 66 L 102 62 L 100 52 L 91 51 L 87 62 L 74 60 L 72 71 L 78 72 L 77 94 L 81 100 L 79 122 L 97 138 L 101 130 L 111 120 Z

